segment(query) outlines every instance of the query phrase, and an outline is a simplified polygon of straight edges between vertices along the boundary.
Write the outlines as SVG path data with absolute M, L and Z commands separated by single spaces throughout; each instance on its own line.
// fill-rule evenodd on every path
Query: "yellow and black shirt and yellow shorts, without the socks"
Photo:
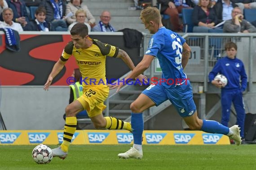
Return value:
M 106 108 L 103 102 L 109 94 L 109 87 L 106 85 L 106 55 L 116 57 L 119 48 L 91 40 L 93 45 L 87 49 L 77 49 L 73 42 L 68 43 L 62 52 L 61 60 L 66 61 L 71 55 L 75 57 L 83 77 L 83 95 L 77 100 L 87 110 L 88 116 L 94 117 Z M 85 108 L 85 102 L 88 103 L 88 108 Z

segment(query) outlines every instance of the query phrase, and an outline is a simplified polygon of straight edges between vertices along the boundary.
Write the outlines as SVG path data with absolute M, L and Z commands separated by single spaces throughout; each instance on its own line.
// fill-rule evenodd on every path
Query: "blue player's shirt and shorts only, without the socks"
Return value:
M 193 115 L 196 106 L 190 81 L 181 65 L 182 45 L 185 39 L 165 27 L 159 28 L 149 42 L 147 55 L 159 60 L 162 68 L 162 81 L 150 85 L 142 93 L 147 95 L 156 106 L 170 100 L 181 117 Z

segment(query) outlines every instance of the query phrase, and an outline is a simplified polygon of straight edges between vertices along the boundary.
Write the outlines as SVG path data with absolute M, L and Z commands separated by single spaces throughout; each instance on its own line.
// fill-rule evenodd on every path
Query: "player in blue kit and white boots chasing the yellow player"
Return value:
M 193 93 L 189 80 L 183 72 L 190 57 L 190 47 L 185 39 L 179 34 L 166 29 L 161 22 L 159 10 L 148 7 L 141 11 L 141 21 L 145 28 L 154 34 L 149 42 L 148 49 L 141 62 L 125 77 L 125 81 L 135 78 L 150 67 L 155 57 L 159 59 L 162 68 L 162 78 L 170 80 L 155 83 L 145 89 L 139 97 L 132 102 L 131 123 L 134 144 L 125 153 L 119 153 L 119 157 L 141 159 L 142 153 L 142 132 L 144 128 L 142 112 L 151 106 L 159 106 L 166 100 L 170 100 L 177 112 L 185 120 L 191 130 L 201 130 L 208 133 L 219 133 L 233 138 L 237 145 L 241 144 L 238 125 L 225 127 L 212 120 L 202 120 L 197 116 L 196 106 L 193 101 Z M 173 80 L 183 80 L 173 83 Z M 112 87 L 117 92 L 123 84 Z

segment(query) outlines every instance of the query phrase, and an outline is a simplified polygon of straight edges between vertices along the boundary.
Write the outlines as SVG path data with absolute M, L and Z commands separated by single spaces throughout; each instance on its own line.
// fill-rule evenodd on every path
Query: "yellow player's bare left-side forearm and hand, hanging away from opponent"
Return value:
M 50 75 L 48 76 L 48 79 L 46 81 L 46 83 L 44 84 L 44 90 L 48 90 L 50 85 L 53 82 L 53 78 L 55 76 L 57 76 L 57 74 L 62 70 L 62 68 L 64 67 L 64 65 L 66 64 L 66 61 L 62 61 L 61 59 L 59 59 L 53 66 L 53 70 L 50 73 Z

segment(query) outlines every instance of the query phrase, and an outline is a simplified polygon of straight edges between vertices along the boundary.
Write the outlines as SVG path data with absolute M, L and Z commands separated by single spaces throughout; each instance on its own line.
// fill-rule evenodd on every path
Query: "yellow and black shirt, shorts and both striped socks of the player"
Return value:
M 87 110 L 88 116 L 91 118 L 102 114 L 106 108 L 103 103 L 109 94 L 109 87 L 106 85 L 106 55 L 116 57 L 119 48 L 91 38 L 90 40 L 93 41 L 93 45 L 87 49 L 77 49 L 73 42 L 68 43 L 62 52 L 61 60 L 67 61 L 71 55 L 75 57 L 83 77 L 83 95 L 77 100 Z M 131 123 L 113 117 L 105 117 L 105 119 L 105 128 L 131 131 Z M 64 152 L 68 151 L 76 125 L 76 117 L 66 117 L 63 143 L 61 144 L 61 149 Z

